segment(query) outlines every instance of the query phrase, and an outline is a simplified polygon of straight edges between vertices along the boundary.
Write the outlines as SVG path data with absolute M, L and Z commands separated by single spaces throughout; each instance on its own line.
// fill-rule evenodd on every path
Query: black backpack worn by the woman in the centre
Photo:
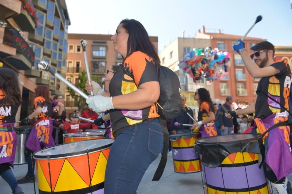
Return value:
M 157 100 L 158 114 L 165 120 L 177 118 L 182 107 L 181 89 L 178 76 L 169 68 L 158 70 L 160 96 Z

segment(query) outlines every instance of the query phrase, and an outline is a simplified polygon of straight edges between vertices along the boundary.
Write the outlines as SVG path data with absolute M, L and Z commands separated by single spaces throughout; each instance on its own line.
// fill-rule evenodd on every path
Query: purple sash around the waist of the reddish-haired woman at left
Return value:
M 30 131 L 25 146 L 32 152 L 36 152 L 41 149 L 41 145 L 45 147 L 51 147 L 55 145 L 52 132 L 52 120 L 42 120 L 38 122 Z

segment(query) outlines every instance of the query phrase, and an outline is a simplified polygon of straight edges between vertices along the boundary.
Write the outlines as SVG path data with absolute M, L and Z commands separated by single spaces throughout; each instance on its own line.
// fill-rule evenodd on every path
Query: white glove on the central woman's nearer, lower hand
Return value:
M 93 96 L 86 100 L 88 107 L 97 113 L 113 109 L 112 97 Z

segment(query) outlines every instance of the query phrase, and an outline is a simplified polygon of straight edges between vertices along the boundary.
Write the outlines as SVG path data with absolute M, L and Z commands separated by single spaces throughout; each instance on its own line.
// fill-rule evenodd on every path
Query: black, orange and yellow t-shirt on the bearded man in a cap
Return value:
M 264 119 L 273 113 L 285 112 L 278 103 L 289 109 L 288 99 L 291 86 L 291 70 L 286 60 L 277 60 L 270 65 L 278 70 L 279 73 L 260 79 L 256 94 L 255 118 Z M 269 98 L 267 96 L 269 96 Z

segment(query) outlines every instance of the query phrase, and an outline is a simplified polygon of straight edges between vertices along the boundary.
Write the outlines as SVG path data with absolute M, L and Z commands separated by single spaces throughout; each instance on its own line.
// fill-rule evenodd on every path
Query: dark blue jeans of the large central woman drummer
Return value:
M 135 194 L 145 171 L 162 147 L 163 134 L 158 119 L 124 130 L 109 152 L 104 193 Z

